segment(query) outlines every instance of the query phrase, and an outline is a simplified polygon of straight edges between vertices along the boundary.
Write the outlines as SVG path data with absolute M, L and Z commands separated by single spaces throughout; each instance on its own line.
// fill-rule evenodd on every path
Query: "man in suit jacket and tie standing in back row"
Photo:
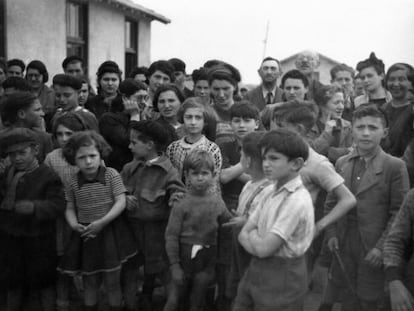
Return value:
M 266 105 L 282 101 L 283 91 L 276 85 L 281 74 L 280 63 L 273 57 L 266 57 L 257 72 L 262 83 L 247 92 L 246 99 L 261 111 Z

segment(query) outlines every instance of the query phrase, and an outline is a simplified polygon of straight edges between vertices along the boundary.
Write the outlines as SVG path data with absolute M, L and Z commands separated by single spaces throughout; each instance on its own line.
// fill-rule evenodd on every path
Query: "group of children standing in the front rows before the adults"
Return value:
M 54 119 L 58 148 L 43 163 L 33 130 L 2 133 L 8 310 L 21 310 L 29 290 L 44 310 L 68 310 L 79 277 L 85 310 L 98 309 L 102 284 L 111 310 L 136 310 L 140 279 L 143 310 L 159 284 L 164 310 L 204 310 L 211 291 L 217 310 L 302 310 L 312 271 L 324 265 L 321 310 L 338 300 L 342 310 L 412 310 L 414 282 L 403 272 L 412 195 L 403 203 L 405 163 L 381 149 L 381 110 L 355 110 L 353 148 L 334 168 L 308 143 L 317 120 L 299 100 L 271 111 L 268 132 L 255 106 L 234 103 L 235 139 L 217 144 L 203 134 L 202 103 L 189 98 L 179 109 L 185 135 L 169 146 L 160 122 L 129 123 L 133 159 L 121 172 L 105 165 L 111 148 L 75 112 Z M 328 264 L 317 260 L 321 248 L 333 254 Z

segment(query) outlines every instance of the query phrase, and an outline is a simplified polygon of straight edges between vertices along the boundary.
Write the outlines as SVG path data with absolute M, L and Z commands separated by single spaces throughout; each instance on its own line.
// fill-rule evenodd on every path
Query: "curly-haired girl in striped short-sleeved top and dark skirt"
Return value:
M 63 156 L 79 168 L 66 191 L 66 220 L 73 230 L 58 270 L 81 274 L 85 310 L 97 310 L 103 279 L 111 310 L 121 310 L 120 272 L 136 254 L 133 236 L 121 217 L 125 187 L 119 173 L 102 166 L 110 147 L 94 131 L 78 132 L 65 143 Z

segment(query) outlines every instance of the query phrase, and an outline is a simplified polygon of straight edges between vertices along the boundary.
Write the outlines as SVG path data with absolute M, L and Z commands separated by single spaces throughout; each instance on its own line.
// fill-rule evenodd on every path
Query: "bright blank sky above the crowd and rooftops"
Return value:
M 221 59 L 242 82 L 259 83 L 263 55 L 282 60 L 307 49 L 354 68 L 371 51 L 386 67 L 414 65 L 414 0 L 134 1 L 172 21 L 152 23 L 152 61 L 181 58 L 190 74 Z

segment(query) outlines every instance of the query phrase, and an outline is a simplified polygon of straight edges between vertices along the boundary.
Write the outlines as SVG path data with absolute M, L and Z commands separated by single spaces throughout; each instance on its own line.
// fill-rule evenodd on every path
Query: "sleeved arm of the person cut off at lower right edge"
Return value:
M 414 190 L 406 196 L 384 242 L 385 276 L 388 281 L 401 280 L 406 249 L 413 239 Z

